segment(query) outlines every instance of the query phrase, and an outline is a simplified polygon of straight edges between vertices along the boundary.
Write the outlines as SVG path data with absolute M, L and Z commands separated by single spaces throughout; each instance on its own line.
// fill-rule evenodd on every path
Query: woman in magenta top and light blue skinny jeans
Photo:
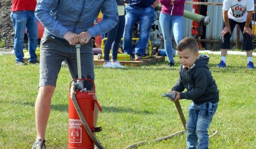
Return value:
M 172 47 L 173 35 L 176 45 L 178 45 L 183 38 L 185 1 L 186 0 L 171 0 L 170 2 L 170 0 L 159 0 L 162 4 L 159 23 L 164 36 L 164 46 L 169 61 L 169 67 L 173 67 L 175 64 Z

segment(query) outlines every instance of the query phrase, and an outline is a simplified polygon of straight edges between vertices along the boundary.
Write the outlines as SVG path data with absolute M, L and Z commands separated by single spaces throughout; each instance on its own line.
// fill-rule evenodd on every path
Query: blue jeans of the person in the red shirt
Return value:
M 23 61 L 23 46 L 24 46 L 24 31 L 27 32 L 28 37 L 28 62 L 35 61 L 37 56 L 35 50 L 37 47 L 37 19 L 34 11 L 14 11 L 10 13 L 10 18 L 14 26 L 14 53 L 15 62 Z

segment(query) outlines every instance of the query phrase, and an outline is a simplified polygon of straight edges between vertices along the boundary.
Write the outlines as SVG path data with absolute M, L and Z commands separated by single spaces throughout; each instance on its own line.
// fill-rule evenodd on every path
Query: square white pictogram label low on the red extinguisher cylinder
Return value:
M 68 128 L 68 137 L 69 143 L 82 143 L 82 128 L 79 127 L 69 127 Z

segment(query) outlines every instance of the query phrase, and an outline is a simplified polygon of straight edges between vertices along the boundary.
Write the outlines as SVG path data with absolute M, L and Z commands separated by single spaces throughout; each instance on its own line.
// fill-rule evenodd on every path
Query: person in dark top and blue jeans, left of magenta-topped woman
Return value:
M 132 32 L 136 21 L 140 21 L 139 41 L 135 47 L 135 61 L 142 60 L 148 43 L 152 21 L 155 18 L 155 7 L 158 0 L 131 0 L 126 6 L 125 27 L 123 35 L 123 49 L 125 54 L 132 56 Z

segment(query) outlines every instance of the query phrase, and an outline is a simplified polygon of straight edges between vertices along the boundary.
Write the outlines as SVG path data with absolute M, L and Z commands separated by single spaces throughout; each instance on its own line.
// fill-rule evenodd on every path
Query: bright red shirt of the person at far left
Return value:
M 12 0 L 11 12 L 31 10 L 34 11 L 36 0 Z

